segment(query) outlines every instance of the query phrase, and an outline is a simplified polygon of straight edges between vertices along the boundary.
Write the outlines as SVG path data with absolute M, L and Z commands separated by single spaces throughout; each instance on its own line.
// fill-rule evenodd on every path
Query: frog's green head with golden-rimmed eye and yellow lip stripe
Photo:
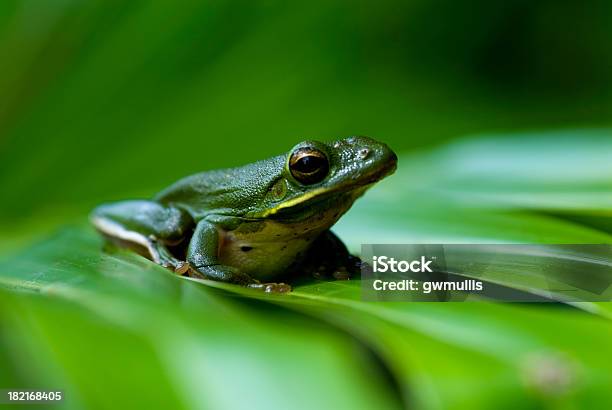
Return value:
M 368 137 L 303 141 L 289 151 L 258 217 L 331 226 L 366 189 L 395 171 L 397 156 Z

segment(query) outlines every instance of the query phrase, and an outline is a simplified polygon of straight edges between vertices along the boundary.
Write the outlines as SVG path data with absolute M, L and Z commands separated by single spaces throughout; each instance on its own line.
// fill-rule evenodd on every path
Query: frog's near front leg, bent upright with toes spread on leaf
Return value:
M 219 229 L 214 223 L 202 220 L 196 229 L 187 248 L 187 262 L 205 279 L 235 283 L 266 292 L 288 292 L 289 285 L 284 283 L 260 283 L 239 269 L 222 265 L 218 260 Z

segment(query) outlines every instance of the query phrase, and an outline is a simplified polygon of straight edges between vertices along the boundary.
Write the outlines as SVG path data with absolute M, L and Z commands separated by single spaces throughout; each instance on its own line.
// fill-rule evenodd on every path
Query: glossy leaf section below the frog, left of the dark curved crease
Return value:
M 100 250 L 68 230 L 0 266 L 25 386 L 65 389 L 74 408 L 397 407 L 353 338 Z

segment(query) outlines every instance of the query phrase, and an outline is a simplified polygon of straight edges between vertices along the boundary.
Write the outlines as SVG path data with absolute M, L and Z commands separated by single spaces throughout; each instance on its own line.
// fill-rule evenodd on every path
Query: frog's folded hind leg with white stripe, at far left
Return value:
M 187 213 L 153 201 L 121 201 L 97 207 L 91 220 L 115 244 L 131 248 L 177 273 L 189 269 L 167 247 L 180 243 L 191 231 L 193 220 Z

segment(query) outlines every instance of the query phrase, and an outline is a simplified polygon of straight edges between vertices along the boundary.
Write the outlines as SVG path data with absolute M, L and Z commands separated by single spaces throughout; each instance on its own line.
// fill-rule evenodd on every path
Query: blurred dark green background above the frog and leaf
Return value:
M 0 215 L 149 196 L 304 138 L 401 152 L 609 124 L 611 20 L 606 1 L 5 0 Z

